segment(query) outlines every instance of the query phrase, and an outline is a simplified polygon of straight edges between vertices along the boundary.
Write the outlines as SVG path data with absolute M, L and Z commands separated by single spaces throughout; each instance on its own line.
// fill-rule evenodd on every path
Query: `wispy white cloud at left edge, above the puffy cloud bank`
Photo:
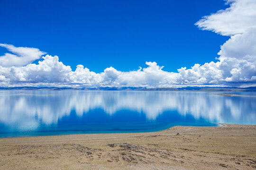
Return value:
M 5 53 L 3 56 L 0 56 L 0 66 L 4 67 L 25 66 L 46 54 L 37 48 L 15 47 L 10 44 L 2 43 L 0 43 L 0 47 L 4 47 L 13 53 Z

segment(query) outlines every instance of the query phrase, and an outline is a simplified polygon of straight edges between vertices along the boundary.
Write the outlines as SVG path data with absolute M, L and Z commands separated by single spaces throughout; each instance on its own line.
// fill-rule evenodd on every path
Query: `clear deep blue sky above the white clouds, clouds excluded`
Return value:
M 0 43 L 57 55 L 72 70 L 130 71 L 155 61 L 177 72 L 218 57 L 229 37 L 194 24 L 226 7 L 223 0 L 1 0 Z

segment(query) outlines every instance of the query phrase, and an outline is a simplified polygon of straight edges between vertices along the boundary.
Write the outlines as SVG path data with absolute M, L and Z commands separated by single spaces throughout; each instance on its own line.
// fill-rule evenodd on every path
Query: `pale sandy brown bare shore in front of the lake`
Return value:
M 0 139 L 1 170 L 255 170 L 256 125 Z

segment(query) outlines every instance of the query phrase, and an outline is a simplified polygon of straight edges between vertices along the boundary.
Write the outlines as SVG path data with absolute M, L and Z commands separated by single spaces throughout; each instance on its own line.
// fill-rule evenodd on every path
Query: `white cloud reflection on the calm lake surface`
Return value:
M 34 94 L 34 95 L 28 95 Z M 45 95 L 53 94 L 53 95 Z M 256 123 L 256 97 L 217 96 L 204 92 L 153 91 L 0 91 L 0 122 L 18 129 L 40 122 L 57 124 L 72 110 L 82 117 L 102 109 L 108 115 L 131 110 L 155 120 L 165 111 L 177 111 L 211 122 Z

